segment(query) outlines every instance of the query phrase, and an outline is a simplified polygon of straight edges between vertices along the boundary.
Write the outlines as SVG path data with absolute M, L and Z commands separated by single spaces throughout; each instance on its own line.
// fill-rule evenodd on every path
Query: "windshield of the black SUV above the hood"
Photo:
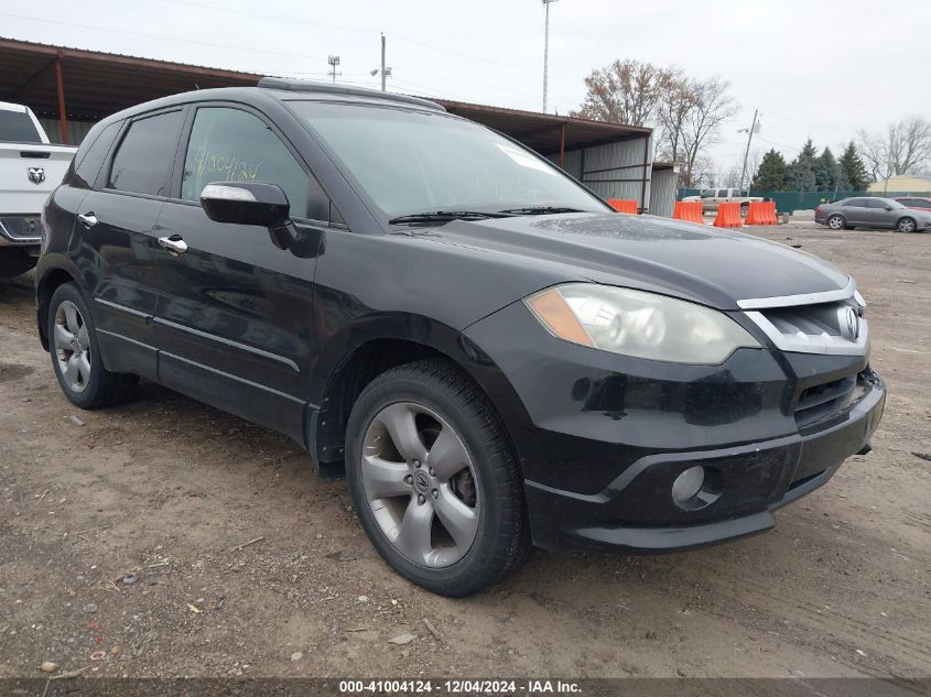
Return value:
M 390 218 L 450 210 L 607 210 L 559 167 L 470 121 L 364 105 L 290 106 Z

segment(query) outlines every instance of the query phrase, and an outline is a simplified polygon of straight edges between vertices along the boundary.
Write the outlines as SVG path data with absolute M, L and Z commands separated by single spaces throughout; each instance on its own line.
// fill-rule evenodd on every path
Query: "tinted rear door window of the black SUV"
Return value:
M 133 121 L 113 155 L 107 186 L 120 192 L 166 196 L 181 116 L 177 110 Z

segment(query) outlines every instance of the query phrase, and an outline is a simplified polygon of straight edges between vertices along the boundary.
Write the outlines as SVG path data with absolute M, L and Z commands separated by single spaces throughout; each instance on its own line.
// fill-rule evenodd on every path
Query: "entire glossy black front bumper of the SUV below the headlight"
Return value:
M 545 548 L 674 552 L 768 530 L 771 511 L 863 450 L 886 400 L 866 356 L 738 349 L 721 366 L 659 363 L 555 340 L 522 306 L 464 336 L 516 393 L 484 383 Z M 696 465 L 703 495 L 676 503 L 673 481 Z

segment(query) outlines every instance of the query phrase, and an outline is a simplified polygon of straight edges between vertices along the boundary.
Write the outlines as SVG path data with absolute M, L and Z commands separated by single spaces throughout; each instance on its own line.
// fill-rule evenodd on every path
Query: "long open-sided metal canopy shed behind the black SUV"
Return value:
M 78 144 L 100 119 L 193 89 L 248 87 L 261 75 L 0 37 L 0 101 L 24 104 L 48 135 Z M 605 198 L 650 206 L 652 130 L 432 99 L 532 148 Z

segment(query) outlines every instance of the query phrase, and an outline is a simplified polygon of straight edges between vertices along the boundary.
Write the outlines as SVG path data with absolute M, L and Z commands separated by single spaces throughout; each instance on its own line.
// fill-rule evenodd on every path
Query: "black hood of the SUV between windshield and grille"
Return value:
M 550 279 L 636 287 L 719 309 L 736 309 L 740 300 L 836 291 L 849 282 L 835 266 L 783 244 L 657 216 L 455 220 L 425 237 L 543 264 Z

